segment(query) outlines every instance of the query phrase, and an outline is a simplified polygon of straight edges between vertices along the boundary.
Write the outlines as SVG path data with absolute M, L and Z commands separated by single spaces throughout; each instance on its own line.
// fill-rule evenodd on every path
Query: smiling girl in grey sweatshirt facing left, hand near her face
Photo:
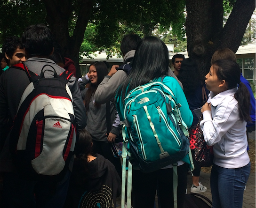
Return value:
M 112 162 L 121 175 L 120 158 L 112 153 L 112 142 L 120 133 L 120 119 L 112 101 L 109 102 L 111 129 L 107 132 L 106 104 L 97 104 L 94 99 L 98 85 L 108 74 L 108 67 L 105 62 L 93 62 L 89 72 L 78 80 L 81 94 L 85 103 L 87 113 L 86 130 L 91 134 L 93 141 L 93 153 L 100 154 Z

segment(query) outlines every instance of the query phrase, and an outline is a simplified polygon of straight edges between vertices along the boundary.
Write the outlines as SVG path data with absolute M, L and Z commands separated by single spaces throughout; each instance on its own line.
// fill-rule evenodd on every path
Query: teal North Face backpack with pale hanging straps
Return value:
M 180 107 L 171 89 L 162 83 L 164 77 L 138 86 L 128 93 L 124 100 L 123 144 L 123 178 L 125 178 L 126 158 L 128 155 L 129 171 L 132 165 L 139 166 L 143 172 L 157 171 L 170 164 L 174 170 L 174 200 L 177 189 L 177 162 L 191 164 L 188 128 L 184 123 Z M 188 157 L 186 157 L 188 158 Z M 131 176 L 130 176 L 131 177 Z M 128 176 L 128 184 L 131 179 Z M 125 182 L 122 188 L 125 187 Z M 129 189 L 129 187 L 128 187 Z M 122 202 L 125 191 L 122 193 Z M 128 207 L 130 191 L 128 190 Z

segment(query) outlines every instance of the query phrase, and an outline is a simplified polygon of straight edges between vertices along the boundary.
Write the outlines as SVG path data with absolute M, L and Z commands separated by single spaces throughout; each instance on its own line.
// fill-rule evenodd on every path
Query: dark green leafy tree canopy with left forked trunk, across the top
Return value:
M 165 33 L 162 36 L 165 42 L 175 42 L 182 50 L 186 32 L 188 55 L 196 60 L 202 75 L 208 71 L 209 59 L 218 48 L 229 47 L 236 52 L 255 9 L 255 0 L 2 2 L 0 44 L 8 36 L 21 36 L 30 24 L 45 23 L 64 55 L 73 59 L 79 69 L 79 52 L 89 55 L 96 50 L 107 50 L 111 56 L 112 52 L 118 52 L 120 41 L 127 33 L 145 37 L 158 29 Z M 171 33 L 166 32 L 169 28 Z

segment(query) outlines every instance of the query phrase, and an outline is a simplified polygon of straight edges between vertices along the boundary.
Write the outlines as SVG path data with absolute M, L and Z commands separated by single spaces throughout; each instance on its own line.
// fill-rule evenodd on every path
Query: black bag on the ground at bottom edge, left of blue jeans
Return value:
M 212 202 L 199 193 L 188 193 L 185 196 L 184 208 L 212 208 Z

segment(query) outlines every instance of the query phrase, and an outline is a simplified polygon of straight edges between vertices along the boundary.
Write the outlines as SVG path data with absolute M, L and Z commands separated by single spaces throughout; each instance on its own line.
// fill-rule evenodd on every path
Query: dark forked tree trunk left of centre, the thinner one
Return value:
M 76 77 L 80 77 L 79 50 L 92 10 L 92 0 L 80 1 L 78 19 L 72 37 L 68 30 L 68 22 L 73 11 L 72 0 L 43 1 L 47 10 L 47 22 L 56 42 L 62 47 L 64 56 L 75 62 Z

